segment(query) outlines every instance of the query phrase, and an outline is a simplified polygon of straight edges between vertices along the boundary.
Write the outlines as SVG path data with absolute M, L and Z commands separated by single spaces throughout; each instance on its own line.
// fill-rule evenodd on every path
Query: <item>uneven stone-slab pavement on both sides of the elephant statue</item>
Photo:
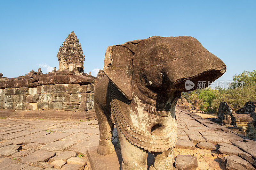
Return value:
M 176 117 L 175 156 L 194 155 L 198 160 L 197 169 L 236 166 L 254 169 L 256 166 L 256 141 L 178 107 Z M 2 118 L 0 170 L 88 169 L 86 149 L 99 144 L 98 127 L 96 120 Z M 113 141 L 117 141 L 116 129 Z

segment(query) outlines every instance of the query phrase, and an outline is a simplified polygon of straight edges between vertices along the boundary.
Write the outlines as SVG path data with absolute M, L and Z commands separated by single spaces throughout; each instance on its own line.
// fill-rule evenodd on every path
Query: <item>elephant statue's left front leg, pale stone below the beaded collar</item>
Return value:
M 122 170 L 147 170 L 148 152 L 131 144 L 116 126 L 122 153 Z

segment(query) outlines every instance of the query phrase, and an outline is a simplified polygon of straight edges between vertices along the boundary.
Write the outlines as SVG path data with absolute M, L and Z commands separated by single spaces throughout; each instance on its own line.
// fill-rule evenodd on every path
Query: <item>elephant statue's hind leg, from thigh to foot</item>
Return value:
M 108 155 L 115 151 L 115 147 L 112 144 L 114 124 L 107 119 L 105 114 L 108 113 L 104 113 L 97 102 L 94 103 L 94 108 L 100 128 L 100 145 L 97 152 L 100 155 Z

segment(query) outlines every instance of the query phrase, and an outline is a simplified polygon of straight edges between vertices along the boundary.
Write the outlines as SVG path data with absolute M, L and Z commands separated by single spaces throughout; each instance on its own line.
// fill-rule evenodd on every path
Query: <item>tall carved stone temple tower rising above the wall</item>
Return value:
M 60 46 L 57 57 L 59 59 L 58 71 L 72 71 L 78 63 L 84 65 L 85 56 L 74 31 L 68 34 Z

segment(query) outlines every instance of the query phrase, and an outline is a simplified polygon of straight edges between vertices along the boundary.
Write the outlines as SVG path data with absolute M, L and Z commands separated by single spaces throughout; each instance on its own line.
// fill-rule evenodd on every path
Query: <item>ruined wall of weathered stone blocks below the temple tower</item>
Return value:
M 0 109 L 87 111 L 94 108 L 94 79 L 55 72 L 0 82 Z

